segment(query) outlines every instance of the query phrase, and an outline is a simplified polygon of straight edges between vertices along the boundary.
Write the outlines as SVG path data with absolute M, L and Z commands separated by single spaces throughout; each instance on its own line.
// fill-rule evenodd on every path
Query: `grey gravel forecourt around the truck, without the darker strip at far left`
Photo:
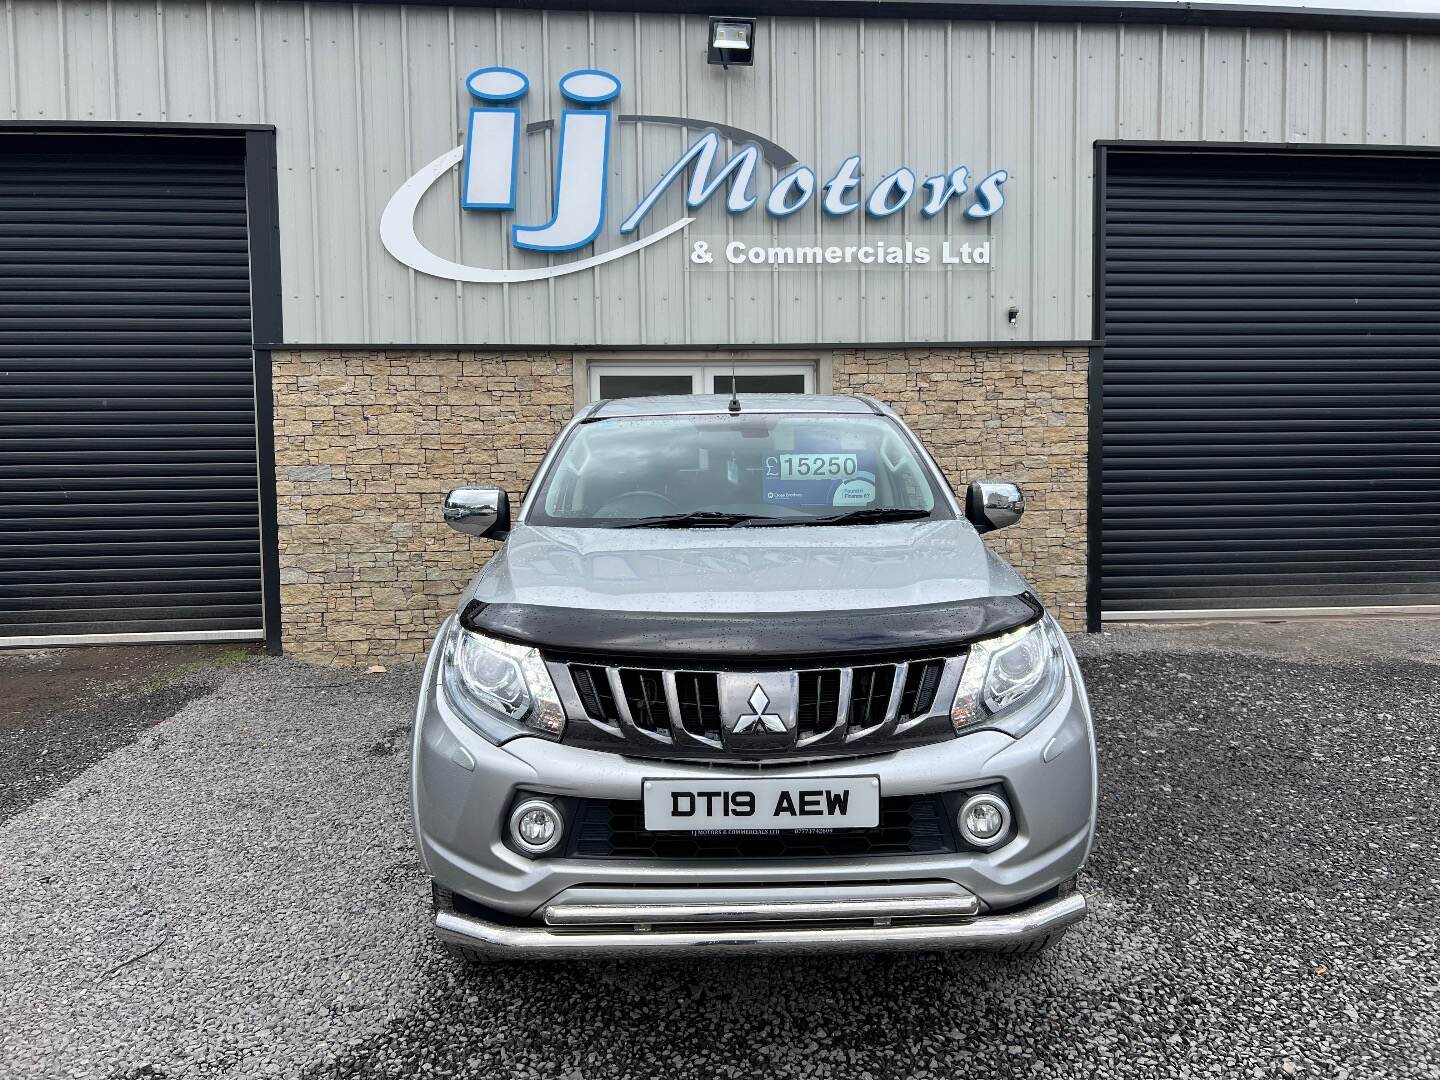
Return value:
M 1083 642 L 1096 910 L 1028 963 L 461 968 L 415 672 L 240 665 L 0 825 L 0 1074 L 1440 1077 L 1440 628 L 1308 626 Z

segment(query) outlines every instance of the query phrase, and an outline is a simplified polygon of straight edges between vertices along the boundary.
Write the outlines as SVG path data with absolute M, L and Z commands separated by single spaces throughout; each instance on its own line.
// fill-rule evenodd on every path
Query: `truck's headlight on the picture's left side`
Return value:
M 564 710 L 550 672 L 528 645 L 487 638 L 456 624 L 445 647 L 441 688 L 461 719 L 492 743 L 521 733 L 559 739 L 564 732 Z

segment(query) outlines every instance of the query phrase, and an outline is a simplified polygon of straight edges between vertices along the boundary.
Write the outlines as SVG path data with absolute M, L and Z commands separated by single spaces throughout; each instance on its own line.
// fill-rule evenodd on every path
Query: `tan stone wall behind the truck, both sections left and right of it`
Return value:
M 1020 482 L 992 543 L 1070 629 L 1084 621 L 1084 350 L 834 353 L 834 389 L 893 403 L 958 491 Z M 494 544 L 441 523 L 446 490 L 518 498 L 575 412 L 570 353 L 274 356 L 281 628 L 325 664 L 413 662 Z

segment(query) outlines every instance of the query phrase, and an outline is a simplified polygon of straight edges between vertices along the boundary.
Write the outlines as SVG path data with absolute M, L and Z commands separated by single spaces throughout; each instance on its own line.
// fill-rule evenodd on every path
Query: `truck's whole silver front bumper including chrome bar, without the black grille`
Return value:
M 847 858 L 528 858 L 504 837 L 516 799 L 635 802 L 648 778 L 755 776 L 737 766 L 642 760 L 536 737 L 495 746 L 435 693 L 435 657 L 415 729 L 412 809 L 425 868 L 454 903 L 448 942 L 488 956 L 697 950 L 995 949 L 1086 916 L 1067 893 L 1094 834 L 1090 711 L 1073 655 L 1063 691 L 1021 739 L 982 730 L 864 759 L 778 765 L 788 778 L 878 778 L 883 795 L 1002 785 L 1014 837 L 989 851 Z M 827 907 L 827 904 L 831 904 Z M 716 909 L 714 920 L 706 914 Z

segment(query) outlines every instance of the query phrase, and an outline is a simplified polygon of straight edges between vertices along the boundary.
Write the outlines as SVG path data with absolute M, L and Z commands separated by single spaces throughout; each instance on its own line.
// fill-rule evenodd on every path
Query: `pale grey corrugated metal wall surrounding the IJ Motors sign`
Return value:
M 292 343 L 710 344 L 1081 340 L 1090 327 L 1097 138 L 1440 143 L 1440 37 L 1030 23 L 765 19 L 753 69 L 704 63 L 706 20 L 300 3 L 7 0 L 0 118 L 269 122 L 278 128 L 285 336 Z M 994 236 L 994 266 L 950 271 L 687 271 L 667 239 L 608 266 L 524 285 L 415 274 L 380 245 L 393 190 L 459 143 L 461 79 L 530 73 L 524 120 L 559 115 L 573 68 L 618 73 L 616 112 L 729 122 L 828 176 L 861 151 L 900 164 L 1012 174 L 986 223 L 952 209 L 865 223 L 874 236 Z M 626 130 L 628 128 L 628 130 Z M 622 125 L 609 222 L 688 145 Z M 524 140 L 518 219 L 549 216 L 553 132 Z M 769 168 L 762 174 L 768 176 Z M 678 216 L 667 196 L 658 228 Z M 462 220 L 464 217 L 464 220 Z M 530 265 L 454 181 L 418 215 L 446 258 Z M 693 236 L 855 235 L 812 207 L 770 225 L 719 200 Z M 844 242 L 844 240 L 841 240 Z M 589 252 L 580 252 L 586 255 Z M 1007 310 L 1018 307 L 1015 327 Z

